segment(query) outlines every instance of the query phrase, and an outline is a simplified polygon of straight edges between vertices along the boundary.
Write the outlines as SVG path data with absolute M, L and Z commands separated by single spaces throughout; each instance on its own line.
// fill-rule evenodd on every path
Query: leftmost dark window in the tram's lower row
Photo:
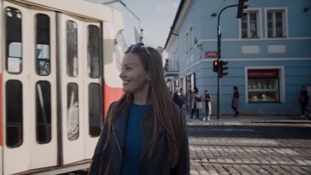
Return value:
M 6 83 L 6 132 L 9 148 L 23 143 L 23 89 L 18 80 Z

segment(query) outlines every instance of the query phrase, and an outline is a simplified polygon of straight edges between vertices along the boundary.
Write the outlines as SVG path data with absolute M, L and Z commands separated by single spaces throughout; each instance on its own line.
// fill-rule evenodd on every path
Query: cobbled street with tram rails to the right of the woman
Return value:
M 191 174 L 311 174 L 311 124 L 197 120 L 188 133 Z

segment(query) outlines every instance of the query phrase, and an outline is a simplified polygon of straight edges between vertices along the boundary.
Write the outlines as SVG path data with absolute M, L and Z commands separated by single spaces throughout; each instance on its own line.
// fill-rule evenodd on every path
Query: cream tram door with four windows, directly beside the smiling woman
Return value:
M 62 160 L 92 158 L 102 123 L 100 24 L 58 13 Z

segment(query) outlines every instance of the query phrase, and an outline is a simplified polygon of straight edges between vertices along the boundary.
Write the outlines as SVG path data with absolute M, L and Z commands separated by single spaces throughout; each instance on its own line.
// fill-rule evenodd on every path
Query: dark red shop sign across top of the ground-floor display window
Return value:
M 279 78 L 279 70 L 277 69 L 248 70 L 248 78 Z

